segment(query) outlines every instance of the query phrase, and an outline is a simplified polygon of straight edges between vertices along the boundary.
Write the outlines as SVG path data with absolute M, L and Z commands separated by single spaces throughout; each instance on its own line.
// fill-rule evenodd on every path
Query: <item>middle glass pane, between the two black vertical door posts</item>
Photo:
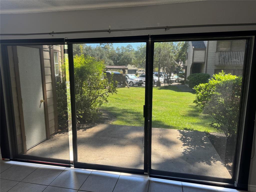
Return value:
M 73 50 L 78 162 L 143 169 L 146 43 Z

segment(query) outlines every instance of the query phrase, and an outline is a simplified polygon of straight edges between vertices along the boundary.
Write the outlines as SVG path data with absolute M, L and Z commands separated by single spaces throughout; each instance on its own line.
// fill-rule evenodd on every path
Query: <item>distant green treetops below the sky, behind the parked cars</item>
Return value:
M 187 42 L 157 42 L 154 45 L 154 68 L 164 71 L 173 71 L 179 61 L 185 62 Z M 82 46 L 82 51 L 80 51 Z M 134 49 L 131 44 L 114 48 L 112 43 L 101 43 L 97 46 L 87 44 L 74 44 L 74 55 L 94 57 L 97 61 L 104 61 L 105 65 L 127 66 L 137 68 L 146 67 L 146 44 L 141 44 Z

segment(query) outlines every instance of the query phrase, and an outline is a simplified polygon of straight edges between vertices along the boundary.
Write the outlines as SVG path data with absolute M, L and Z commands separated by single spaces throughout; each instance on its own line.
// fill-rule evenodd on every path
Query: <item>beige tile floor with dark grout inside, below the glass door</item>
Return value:
M 197 185 L 118 172 L 0 161 L 1 192 L 224 192 Z

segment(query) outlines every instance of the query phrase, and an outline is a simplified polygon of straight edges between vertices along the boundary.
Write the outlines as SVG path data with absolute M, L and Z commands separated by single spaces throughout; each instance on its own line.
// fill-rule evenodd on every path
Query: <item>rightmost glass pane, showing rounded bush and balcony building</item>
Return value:
M 152 169 L 232 177 L 245 44 L 154 44 Z

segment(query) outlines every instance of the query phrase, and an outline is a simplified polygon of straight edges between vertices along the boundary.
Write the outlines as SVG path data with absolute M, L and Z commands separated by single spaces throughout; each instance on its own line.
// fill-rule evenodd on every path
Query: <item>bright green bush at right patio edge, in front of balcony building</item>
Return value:
M 210 115 L 214 120 L 211 126 L 222 130 L 227 137 L 236 135 L 241 96 L 242 77 L 215 74 L 208 83 L 199 84 L 194 103 L 203 114 Z

